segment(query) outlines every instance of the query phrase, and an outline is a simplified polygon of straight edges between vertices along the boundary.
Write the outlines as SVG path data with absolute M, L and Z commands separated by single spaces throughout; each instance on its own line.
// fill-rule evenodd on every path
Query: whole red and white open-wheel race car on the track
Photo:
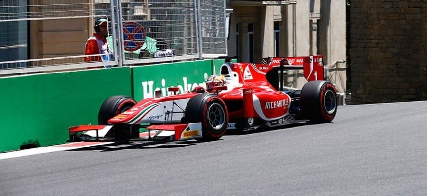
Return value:
M 148 140 L 209 141 L 221 138 L 227 130 L 248 131 L 303 121 L 328 123 L 334 119 L 336 91 L 333 84 L 323 80 L 323 56 L 264 58 L 257 64 L 232 63 L 225 58 L 220 74 L 206 81 L 206 89 L 197 87 L 176 94 L 178 88 L 170 87 L 175 95 L 139 102 L 112 96 L 99 110 L 101 125 L 70 127 L 70 138 L 129 141 L 141 139 L 139 129 L 145 128 Z M 273 80 L 285 69 L 303 69 L 308 82 L 300 90 L 279 88 Z

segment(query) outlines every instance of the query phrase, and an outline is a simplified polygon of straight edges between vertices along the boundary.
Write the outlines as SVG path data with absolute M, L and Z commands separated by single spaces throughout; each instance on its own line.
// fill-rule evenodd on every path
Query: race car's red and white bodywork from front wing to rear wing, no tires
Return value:
M 291 97 L 274 88 L 267 80 L 266 74 L 278 69 L 303 69 L 308 81 L 323 80 L 323 56 L 264 58 L 261 63 L 224 63 L 220 76 L 225 78 L 225 86 L 213 88 L 213 93 L 225 102 L 228 111 L 230 129 L 248 130 L 258 125 L 279 125 L 289 118 Z M 277 74 L 276 74 L 277 75 Z M 171 87 L 169 91 L 177 93 L 179 88 Z M 177 140 L 181 137 L 195 135 L 198 132 L 189 130 L 188 123 L 181 122 L 188 101 L 200 93 L 187 92 L 157 98 L 146 98 L 137 102 L 132 108 L 117 114 L 108 120 L 113 125 L 150 123 L 148 129 L 173 130 Z M 199 115 L 199 114 L 187 114 Z M 258 123 L 255 124 L 254 121 Z M 194 124 L 194 123 L 193 123 Z M 191 124 L 189 128 L 195 129 Z M 200 122 L 199 122 L 200 124 Z M 235 126 L 235 124 L 238 124 Z M 70 127 L 70 132 L 99 130 L 103 127 L 83 125 Z M 201 129 L 201 128 L 200 128 Z M 188 130 L 187 130 L 188 131 Z M 180 135 L 182 134 L 182 136 Z

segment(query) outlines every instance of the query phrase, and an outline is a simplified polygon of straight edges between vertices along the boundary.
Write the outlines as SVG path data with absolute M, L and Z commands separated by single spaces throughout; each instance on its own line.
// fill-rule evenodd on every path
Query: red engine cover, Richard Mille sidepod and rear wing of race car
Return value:
M 275 89 L 266 79 L 266 73 L 283 66 L 284 69 L 303 69 L 308 81 L 323 80 L 323 56 L 268 58 L 265 64 L 226 63 L 220 74 L 225 76 L 228 90 L 219 96 L 229 108 L 233 118 L 257 117 L 272 121 L 288 113 L 291 98 Z M 235 104 L 243 102 L 241 108 Z

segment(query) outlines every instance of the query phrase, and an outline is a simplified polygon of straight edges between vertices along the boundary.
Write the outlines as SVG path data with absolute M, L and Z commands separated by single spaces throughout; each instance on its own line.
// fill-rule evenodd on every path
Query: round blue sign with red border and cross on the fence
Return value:
M 128 52 L 136 51 L 144 45 L 145 30 L 136 22 L 123 23 L 123 45 Z

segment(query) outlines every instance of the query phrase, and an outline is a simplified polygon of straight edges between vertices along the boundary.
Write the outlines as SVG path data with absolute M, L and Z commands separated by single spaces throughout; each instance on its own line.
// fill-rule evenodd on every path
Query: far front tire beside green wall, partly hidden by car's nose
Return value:
M 116 95 L 107 98 L 98 112 L 98 124 L 108 125 L 108 120 L 125 112 L 136 104 L 133 98 Z M 139 137 L 139 124 L 116 124 L 108 132 L 107 137 L 114 137 L 116 141 L 129 140 Z

